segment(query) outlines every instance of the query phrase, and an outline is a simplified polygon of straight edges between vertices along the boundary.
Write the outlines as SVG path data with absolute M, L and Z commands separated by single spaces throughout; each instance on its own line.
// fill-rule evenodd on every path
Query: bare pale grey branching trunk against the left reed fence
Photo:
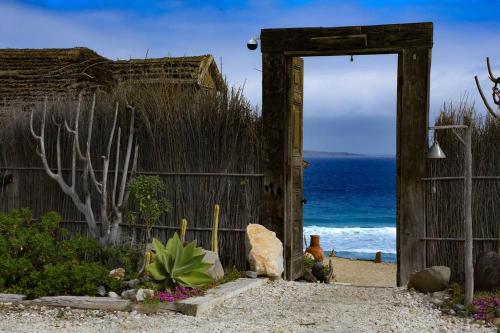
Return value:
M 115 138 L 115 130 L 118 122 L 118 111 L 119 105 L 116 103 L 115 112 L 113 116 L 113 125 L 111 127 L 111 131 L 108 137 L 108 142 L 106 146 L 106 155 L 101 156 L 103 168 L 102 168 L 102 177 L 100 180 L 97 179 L 96 173 L 94 171 L 92 165 L 92 154 L 91 154 L 91 144 L 92 144 L 92 129 L 94 122 L 94 112 L 96 105 L 96 96 L 93 95 L 92 104 L 90 109 L 88 128 L 87 128 L 87 138 L 85 144 L 85 152 L 82 152 L 80 149 L 80 129 L 79 129 L 79 120 L 80 120 L 80 111 L 81 111 L 81 103 L 82 103 L 82 95 L 80 94 L 78 97 L 78 106 L 76 111 L 76 118 L 74 122 L 74 127 L 71 128 L 68 125 L 67 121 L 64 121 L 64 126 L 62 123 L 55 123 L 57 127 L 57 141 L 56 141 L 56 161 L 57 161 L 57 171 L 53 171 L 50 166 L 46 156 L 45 149 L 45 125 L 46 125 L 46 116 L 47 116 L 47 102 L 44 104 L 43 114 L 42 114 L 42 123 L 40 134 L 36 134 L 33 126 L 33 112 L 31 112 L 30 118 L 30 131 L 37 140 L 37 154 L 40 156 L 42 160 L 42 164 L 46 173 L 50 178 L 57 181 L 61 190 L 71 197 L 73 203 L 77 207 L 77 209 L 85 216 L 86 221 L 89 226 L 90 234 L 99 238 L 99 240 L 103 243 L 116 243 L 118 240 L 118 228 L 121 224 L 122 218 L 122 210 L 124 205 L 127 203 L 128 199 L 128 191 L 127 191 L 127 181 L 130 177 L 133 177 L 136 168 L 137 168 L 137 156 L 138 156 L 138 145 L 134 146 L 134 132 L 135 132 L 135 109 L 130 105 L 127 105 L 127 110 L 131 111 L 130 116 L 130 124 L 129 124 L 129 133 L 128 133 L 128 142 L 127 142 L 127 150 L 125 153 L 125 161 L 122 169 L 122 179 L 120 182 L 120 187 L 118 187 L 118 169 L 120 166 L 120 141 L 121 141 L 121 129 L 118 128 L 117 135 L 117 144 L 116 144 L 116 160 L 115 160 L 115 174 L 113 179 L 113 188 L 112 188 L 112 213 L 109 211 L 109 197 L 108 197 L 108 174 L 109 174 L 109 165 L 111 158 L 111 149 L 113 146 L 114 138 Z M 73 145 L 72 145 L 72 157 L 71 157 L 71 185 L 68 185 L 63 178 L 62 175 L 62 153 L 61 153 L 61 128 L 64 127 L 65 130 L 72 136 Z M 133 153 L 132 153 L 133 150 Z M 77 169 L 77 157 L 82 162 L 83 165 L 83 200 L 80 198 L 77 190 L 76 190 L 76 169 Z M 130 167 L 130 163 L 132 161 L 132 166 Z M 130 169 L 130 170 L 129 170 Z M 130 174 L 130 177 L 129 177 Z M 92 207 L 92 194 L 89 186 L 89 182 L 92 183 L 97 194 L 100 195 L 100 212 L 101 212 L 101 222 L 102 228 L 99 232 L 97 223 L 95 221 L 95 214 Z M 117 190 L 119 191 L 118 196 L 116 195 Z M 110 221 L 111 218 L 111 221 Z M 100 235 L 100 236 L 99 236 Z

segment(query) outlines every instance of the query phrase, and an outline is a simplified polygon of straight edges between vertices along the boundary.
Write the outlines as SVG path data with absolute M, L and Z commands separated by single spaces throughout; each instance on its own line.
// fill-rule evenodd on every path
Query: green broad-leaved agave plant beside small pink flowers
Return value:
M 156 254 L 147 270 L 151 278 L 165 288 L 176 285 L 200 288 L 212 282 L 206 274 L 211 264 L 203 262 L 205 254 L 196 246 L 196 241 L 184 246 L 175 233 L 165 246 L 156 238 L 152 243 Z

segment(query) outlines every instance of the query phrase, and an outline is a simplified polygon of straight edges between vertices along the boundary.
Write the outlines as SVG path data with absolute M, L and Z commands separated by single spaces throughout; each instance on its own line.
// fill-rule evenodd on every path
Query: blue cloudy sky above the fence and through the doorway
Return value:
M 443 102 L 500 75 L 500 0 L 493 1 L 117 1 L 0 0 L 0 47 L 87 46 L 108 58 L 213 54 L 229 82 L 261 100 L 260 53 L 245 43 L 261 28 L 432 21 L 431 119 Z M 307 58 L 307 149 L 395 151 L 395 56 Z

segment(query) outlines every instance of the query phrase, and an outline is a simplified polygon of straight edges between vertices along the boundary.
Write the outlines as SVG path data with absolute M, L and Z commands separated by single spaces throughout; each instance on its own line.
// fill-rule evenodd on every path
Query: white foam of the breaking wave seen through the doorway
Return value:
M 396 253 L 396 228 L 330 228 L 307 226 L 304 234 L 309 242 L 310 235 L 320 235 L 323 250 L 359 253 Z

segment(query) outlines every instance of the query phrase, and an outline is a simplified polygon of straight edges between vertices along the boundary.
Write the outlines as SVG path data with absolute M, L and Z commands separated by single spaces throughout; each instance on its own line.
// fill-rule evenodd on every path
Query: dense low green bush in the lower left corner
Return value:
M 67 231 L 60 222 L 54 212 L 40 220 L 32 219 L 28 209 L 0 213 L 0 291 L 30 298 L 96 295 L 100 285 L 120 287 L 109 277 L 110 269 L 136 271 L 138 252 L 84 237 L 62 240 Z

